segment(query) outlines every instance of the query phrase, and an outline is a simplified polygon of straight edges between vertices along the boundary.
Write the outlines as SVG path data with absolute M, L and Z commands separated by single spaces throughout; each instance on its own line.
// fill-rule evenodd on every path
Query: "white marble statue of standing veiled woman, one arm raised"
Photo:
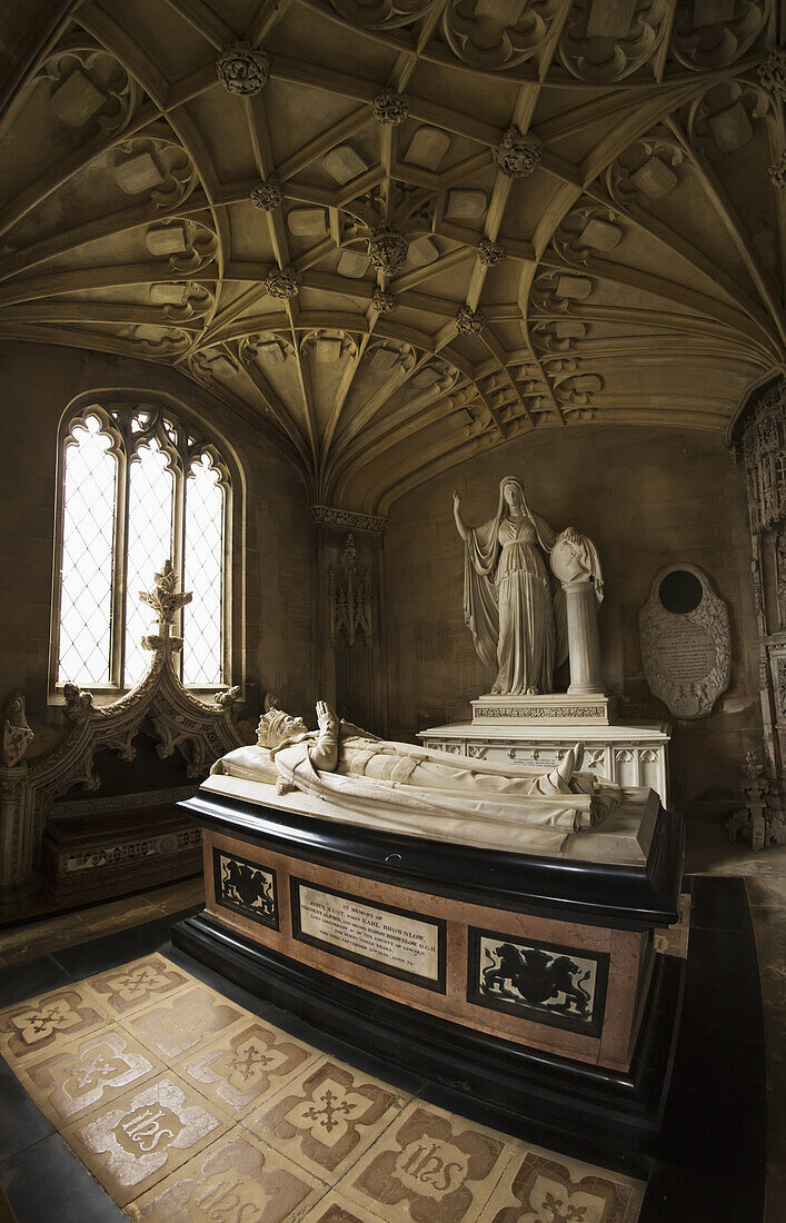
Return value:
M 572 527 L 557 534 L 533 514 L 517 476 L 500 481 L 496 514 L 468 527 L 461 497 L 454 516 L 465 541 L 465 621 L 474 647 L 496 679 L 493 695 L 534 696 L 554 691 L 554 671 L 567 658 L 565 593 L 546 567 L 555 544 L 581 548 L 598 602 L 603 576 L 594 544 Z

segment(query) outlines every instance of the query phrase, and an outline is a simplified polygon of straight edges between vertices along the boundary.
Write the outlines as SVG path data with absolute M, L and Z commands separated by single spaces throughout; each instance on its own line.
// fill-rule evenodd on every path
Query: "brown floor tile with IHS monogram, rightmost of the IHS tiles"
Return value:
M 476 1223 L 517 1151 L 501 1134 L 413 1101 L 342 1188 L 385 1223 Z

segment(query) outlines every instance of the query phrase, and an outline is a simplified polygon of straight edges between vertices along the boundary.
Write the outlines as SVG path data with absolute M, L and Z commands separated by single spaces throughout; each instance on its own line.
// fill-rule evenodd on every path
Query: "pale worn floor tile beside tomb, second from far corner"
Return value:
M 207 986 L 193 982 L 123 1021 L 123 1027 L 166 1063 L 175 1062 L 200 1042 L 215 1041 L 252 1016 Z

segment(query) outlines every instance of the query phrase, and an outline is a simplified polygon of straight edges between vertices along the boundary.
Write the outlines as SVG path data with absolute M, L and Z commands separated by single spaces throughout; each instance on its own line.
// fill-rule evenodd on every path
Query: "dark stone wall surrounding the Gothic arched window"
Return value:
M 68 402 L 93 389 L 167 393 L 240 456 L 244 549 L 233 577 L 246 623 L 244 657 L 233 679 L 244 679 L 249 698 L 241 717 L 253 717 L 269 689 L 293 709 L 313 709 L 314 527 L 306 486 L 290 457 L 251 421 L 160 364 L 2 342 L 0 368 L 0 700 L 15 690 L 24 693 L 37 733 L 29 757 L 56 740 L 62 725 L 60 709 L 48 704 L 57 424 Z

